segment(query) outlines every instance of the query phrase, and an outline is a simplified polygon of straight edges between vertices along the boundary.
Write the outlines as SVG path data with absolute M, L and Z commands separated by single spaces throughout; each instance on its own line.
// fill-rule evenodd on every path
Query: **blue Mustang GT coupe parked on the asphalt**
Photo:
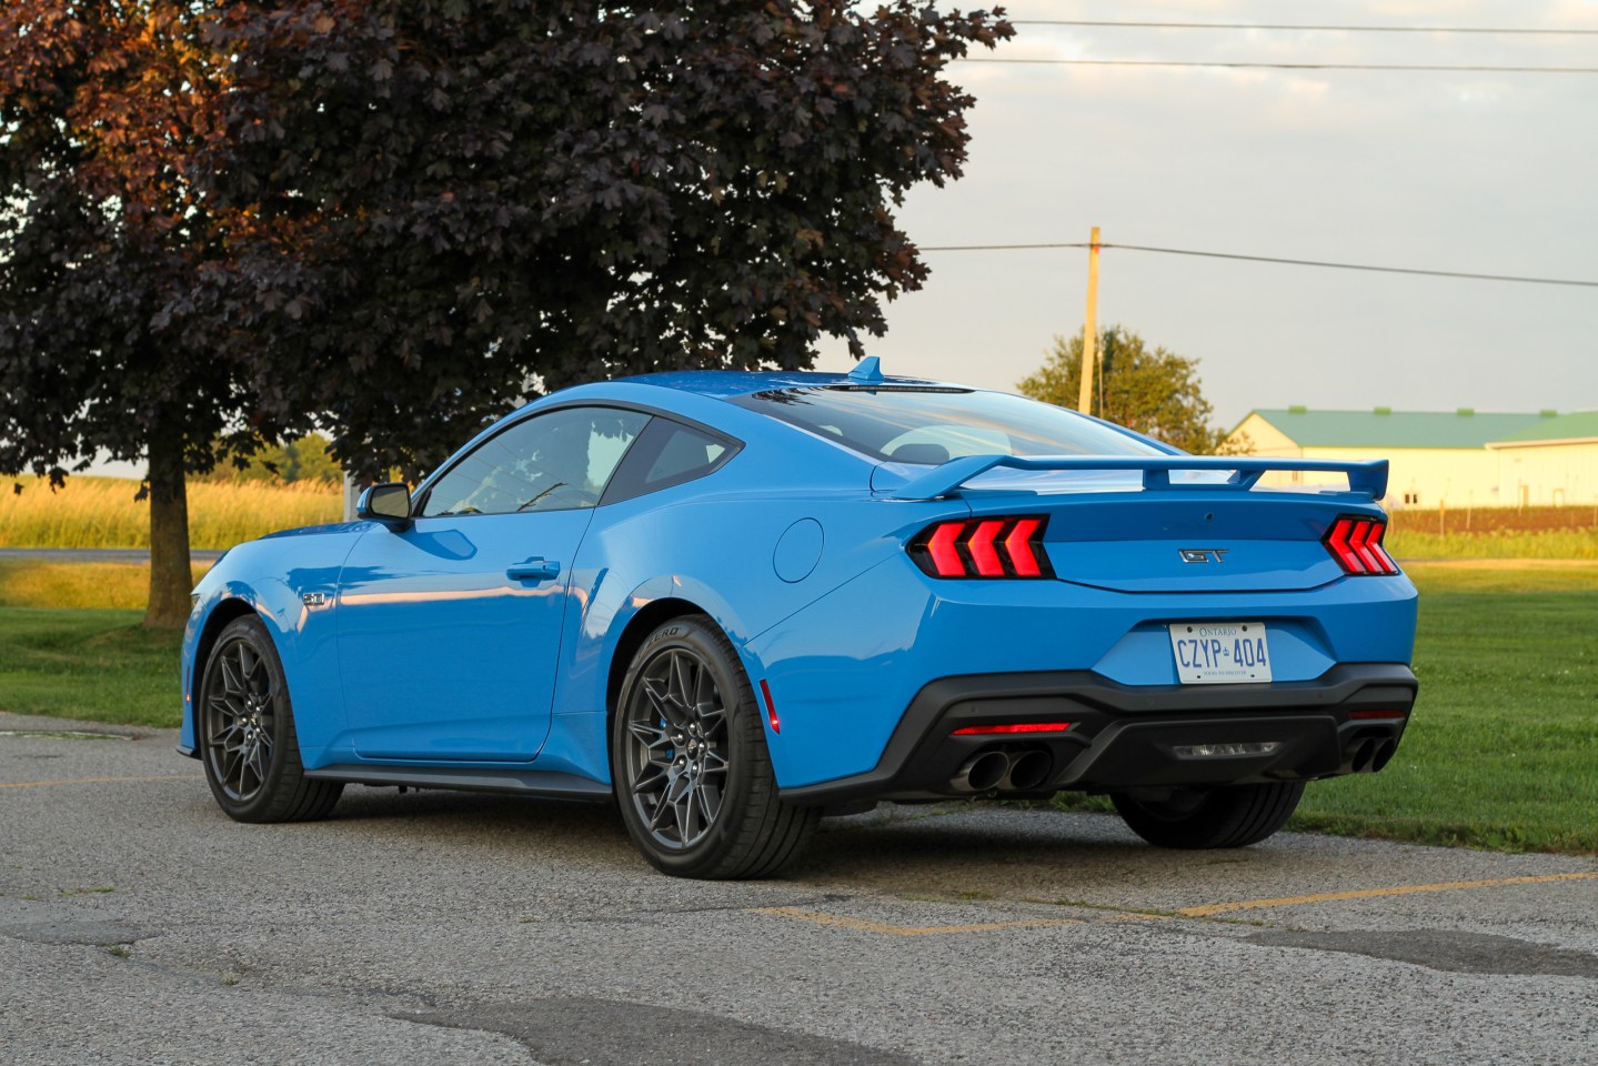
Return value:
M 1253 844 L 1408 722 L 1385 481 L 876 360 L 582 385 L 230 550 L 181 750 L 240 821 L 350 782 L 615 798 L 690 877 L 879 799 L 1077 790 L 1159 845 Z

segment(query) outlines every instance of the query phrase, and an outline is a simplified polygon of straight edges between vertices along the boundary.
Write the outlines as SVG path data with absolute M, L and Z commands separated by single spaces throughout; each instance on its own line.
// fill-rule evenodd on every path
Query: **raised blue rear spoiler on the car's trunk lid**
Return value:
M 1254 487 L 1274 470 L 1341 473 L 1349 478 L 1349 492 L 1379 500 L 1387 495 L 1387 460 L 1341 462 L 1334 459 L 1242 459 L 1227 455 L 965 455 L 911 478 L 893 489 L 895 500 L 935 500 L 949 495 L 972 478 L 989 470 L 1141 470 L 1144 489 L 1237 489 Z M 1224 470 L 1226 481 L 1171 481 L 1176 470 Z

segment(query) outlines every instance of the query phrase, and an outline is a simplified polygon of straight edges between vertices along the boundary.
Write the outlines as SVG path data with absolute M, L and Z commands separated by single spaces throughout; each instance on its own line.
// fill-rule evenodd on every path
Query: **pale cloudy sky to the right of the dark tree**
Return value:
M 1598 0 L 1013 0 L 1004 59 L 1598 69 Z M 1580 29 L 1585 35 L 1031 26 L 1032 19 Z M 967 174 L 922 248 L 1085 241 L 1598 281 L 1598 74 L 956 64 Z M 888 372 L 1013 388 L 1082 324 L 1087 253 L 928 251 Z M 1101 253 L 1099 323 L 1253 408 L 1598 408 L 1598 288 Z M 823 347 L 823 369 L 847 368 Z

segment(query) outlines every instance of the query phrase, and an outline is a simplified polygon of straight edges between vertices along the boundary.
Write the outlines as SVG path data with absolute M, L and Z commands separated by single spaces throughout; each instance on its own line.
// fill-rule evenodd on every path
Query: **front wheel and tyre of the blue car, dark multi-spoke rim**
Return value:
M 310 821 L 339 802 L 344 782 L 300 766 L 283 660 L 260 619 L 229 622 L 211 646 L 195 718 L 206 783 L 235 821 Z

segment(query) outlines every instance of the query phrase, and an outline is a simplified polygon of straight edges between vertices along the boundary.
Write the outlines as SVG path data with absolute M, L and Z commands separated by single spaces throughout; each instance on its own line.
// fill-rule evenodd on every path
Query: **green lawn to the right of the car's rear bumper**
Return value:
M 1291 828 L 1598 852 L 1598 567 L 1414 571 L 1421 698 L 1398 754 L 1310 785 Z

